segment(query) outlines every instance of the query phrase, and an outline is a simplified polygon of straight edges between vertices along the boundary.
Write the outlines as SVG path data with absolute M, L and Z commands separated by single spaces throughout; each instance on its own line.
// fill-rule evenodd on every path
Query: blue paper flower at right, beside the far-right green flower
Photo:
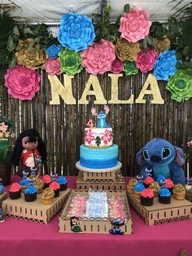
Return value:
M 157 80 L 168 80 L 169 76 L 176 73 L 176 51 L 164 51 L 159 54 L 154 64 L 154 74 Z

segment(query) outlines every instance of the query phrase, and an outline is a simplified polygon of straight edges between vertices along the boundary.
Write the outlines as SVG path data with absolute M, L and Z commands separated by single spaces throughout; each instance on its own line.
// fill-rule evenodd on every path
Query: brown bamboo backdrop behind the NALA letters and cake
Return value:
M 50 82 L 45 71 L 41 73 L 41 90 L 32 101 L 20 101 L 7 94 L 7 88 L 0 86 L 0 114 L 15 122 L 16 137 L 22 130 L 35 128 L 46 142 L 48 170 L 63 175 L 76 175 L 76 161 L 79 160 L 80 145 L 84 141 L 84 129 L 89 118 L 93 118 L 89 105 L 67 105 L 60 99 L 60 105 L 50 105 Z M 81 98 L 88 81 L 85 71 L 72 79 L 72 90 L 76 100 Z M 59 77 L 63 82 L 63 76 Z M 111 79 L 107 73 L 98 76 L 105 99 L 111 98 Z M 119 99 L 134 99 L 142 90 L 146 75 L 121 77 L 119 79 Z M 124 175 L 136 175 L 138 168 L 135 156 L 139 148 L 155 137 L 169 140 L 183 147 L 192 136 L 192 99 L 181 104 L 171 99 L 166 83 L 158 82 L 165 104 L 151 104 L 151 96 L 146 95 L 146 104 L 110 104 L 107 121 L 114 132 L 114 141 L 119 145 L 119 159 Z M 95 105 L 99 110 L 103 106 Z M 191 163 L 190 163 L 191 164 Z M 190 165 L 191 166 L 191 165 Z M 190 168 L 191 169 L 191 168 Z M 14 170 L 15 171 L 15 170 Z M 190 176 L 191 176 L 190 172 Z

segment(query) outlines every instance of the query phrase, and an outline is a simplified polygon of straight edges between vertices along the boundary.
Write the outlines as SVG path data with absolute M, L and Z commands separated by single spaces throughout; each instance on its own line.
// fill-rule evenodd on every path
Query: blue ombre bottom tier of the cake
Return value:
M 109 148 L 88 148 L 80 146 L 81 166 L 93 169 L 106 169 L 117 165 L 118 146 L 113 144 Z

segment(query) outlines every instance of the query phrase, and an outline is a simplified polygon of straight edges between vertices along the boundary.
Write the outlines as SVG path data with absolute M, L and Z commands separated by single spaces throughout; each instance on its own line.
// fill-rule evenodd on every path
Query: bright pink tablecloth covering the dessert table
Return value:
M 75 188 L 76 177 L 67 177 Z M 18 180 L 12 177 L 12 182 Z M 133 235 L 60 234 L 58 215 L 48 224 L 6 218 L 0 223 L 1 256 L 192 256 L 192 219 L 148 227 L 133 210 Z

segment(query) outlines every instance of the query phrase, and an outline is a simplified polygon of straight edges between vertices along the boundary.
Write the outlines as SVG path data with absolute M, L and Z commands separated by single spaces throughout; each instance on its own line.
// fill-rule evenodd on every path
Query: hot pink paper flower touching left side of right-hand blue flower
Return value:
M 139 68 L 142 73 L 147 73 L 153 69 L 157 56 L 158 55 L 153 50 L 147 50 L 146 52 L 140 51 L 137 54 L 137 68 Z

